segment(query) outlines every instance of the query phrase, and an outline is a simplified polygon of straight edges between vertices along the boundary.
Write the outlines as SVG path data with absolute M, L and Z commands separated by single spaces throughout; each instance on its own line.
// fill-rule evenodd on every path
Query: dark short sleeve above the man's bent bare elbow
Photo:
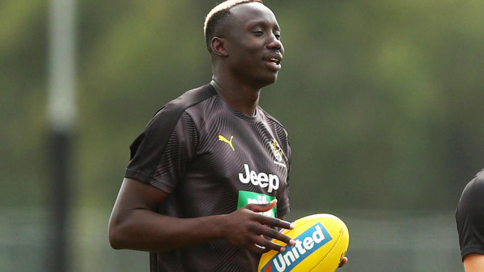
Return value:
M 170 124 L 174 127 L 170 129 Z M 125 177 L 151 184 L 171 193 L 183 179 L 198 143 L 195 123 L 183 112 L 177 121 L 157 114 L 131 144 Z

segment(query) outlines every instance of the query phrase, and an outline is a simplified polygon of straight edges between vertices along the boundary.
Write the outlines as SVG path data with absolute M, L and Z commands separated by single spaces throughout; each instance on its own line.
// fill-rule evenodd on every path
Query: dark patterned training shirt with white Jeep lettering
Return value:
M 255 117 L 231 109 L 210 84 L 165 105 L 130 150 L 125 177 L 170 193 L 160 214 L 222 215 L 274 198 L 277 207 L 265 215 L 289 212 L 291 149 L 286 130 L 260 107 Z M 259 258 L 215 240 L 150 253 L 150 267 L 151 271 L 255 271 Z

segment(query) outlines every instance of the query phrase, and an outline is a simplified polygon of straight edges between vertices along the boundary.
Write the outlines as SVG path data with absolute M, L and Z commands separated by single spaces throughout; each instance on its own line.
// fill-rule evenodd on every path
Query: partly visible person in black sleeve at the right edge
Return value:
M 455 218 L 466 272 L 484 271 L 484 169 L 462 191 Z

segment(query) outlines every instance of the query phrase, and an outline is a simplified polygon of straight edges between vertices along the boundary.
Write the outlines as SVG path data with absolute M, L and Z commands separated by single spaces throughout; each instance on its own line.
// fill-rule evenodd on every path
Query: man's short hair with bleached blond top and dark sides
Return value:
M 209 52 L 212 51 L 210 44 L 215 35 L 215 31 L 221 25 L 225 18 L 228 17 L 231 8 L 245 3 L 257 2 L 262 4 L 262 0 L 227 0 L 215 6 L 205 17 L 205 24 L 203 32 L 205 34 L 205 42 Z

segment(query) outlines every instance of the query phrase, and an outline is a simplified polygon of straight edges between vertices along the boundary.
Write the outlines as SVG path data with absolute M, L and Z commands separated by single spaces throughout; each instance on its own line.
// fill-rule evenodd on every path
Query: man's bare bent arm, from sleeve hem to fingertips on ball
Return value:
M 163 252 L 225 239 L 230 243 L 263 253 L 284 250 L 261 235 L 293 244 L 289 237 L 267 226 L 290 229 L 291 224 L 258 212 L 276 204 L 250 204 L 228 215 L 180 219 L 156 213 L 168 193 L 149 184 L 125 178 L 109 220 L 109 242 L 115 249 Z M 265 226 L 267 225 L 267 226 Z M 257 246 L 257 245 L 259 246 Z

